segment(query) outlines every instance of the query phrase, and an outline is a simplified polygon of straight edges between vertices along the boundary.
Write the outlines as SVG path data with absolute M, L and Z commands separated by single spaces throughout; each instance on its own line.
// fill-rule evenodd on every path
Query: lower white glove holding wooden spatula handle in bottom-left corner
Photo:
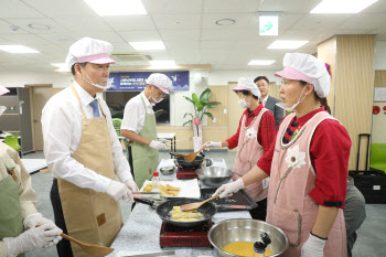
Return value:
M 7 245 L 9 256 L 13 257 L 26 251 L 57 244 L 57 237 L 62 233 L 62 229 L 56 227 L 55 224 L 46 223 L 40 227 L 32 227 L 20 234 L 18 237 L 6 237 L 3 238 L 3 242 Z

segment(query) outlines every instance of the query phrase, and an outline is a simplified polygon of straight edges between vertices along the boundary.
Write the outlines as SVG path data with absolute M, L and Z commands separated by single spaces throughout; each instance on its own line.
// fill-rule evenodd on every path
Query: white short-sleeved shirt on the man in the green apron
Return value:
M 146 109 L 143 108 L 144 101 Z M 154 114 L 153 107 L 143 92 L 138 96 L 132 97 L 125 106 L 124 120 L 120 125 L 120 129 L 130 130 L 139 133 L 144 125 L 146 111 L 148 114 Z

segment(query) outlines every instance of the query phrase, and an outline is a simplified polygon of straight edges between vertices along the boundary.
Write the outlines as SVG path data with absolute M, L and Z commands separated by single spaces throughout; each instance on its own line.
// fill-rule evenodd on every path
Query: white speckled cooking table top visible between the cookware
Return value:
M 159 168 L 167 163 L 165 160 L 161 160 Z M 226 168 L 224 159 L 213 159 L 213 165 L 221 165 Z M 168 180 L 175 179 L 175 172 L 173 175 L 165 175 Z M 160 173 L 160 180 L 165 179 Z M 221 221 L 229 218 L 251 218 L 249 212 L 233 211 L 233 212 L 217 212 L 212 221 L 216 224 Z M 115 257 L 118 251 L 161 251 L 161 250 L 174 250 L 175 256 L 189 257 L 189 256 L 216 256 L 214 249 L 211 247 L 160 247 L 160 229 L 162 221 L 157 215 L 156 211 L 144 204 L 137 204 L 132 210 L 129 218 L 125 222 L 122 228 L 118 233 L 117 238 L 114 240 L 111 247 L 116 250 L 108 255 Z

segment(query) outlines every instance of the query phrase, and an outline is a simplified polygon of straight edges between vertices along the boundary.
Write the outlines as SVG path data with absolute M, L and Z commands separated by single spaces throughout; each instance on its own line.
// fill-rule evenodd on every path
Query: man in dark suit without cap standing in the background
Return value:
M 279 106 L 276 105 L 277 103 L 280 103 L 280 100 L 268 94 L 270 86 L 269 86 L 269 81 L 266 76 L 258 76 L 255 78 L 254 82 L 261 93 L 260 100 L 261 100 L 264 107 L 266 107 L 267 109 L 272 111 L 275 120 L 276 120 L 276 129 L 278 129 L 278 126 L 279 126 L 279 124 L 283 117 L 283 114 L 285 114 L 282 108 L 280 108 Z

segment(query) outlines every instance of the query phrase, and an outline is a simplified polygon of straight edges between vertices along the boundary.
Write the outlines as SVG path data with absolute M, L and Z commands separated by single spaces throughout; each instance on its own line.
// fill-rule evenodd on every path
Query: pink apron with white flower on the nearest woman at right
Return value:
M 301 247 L 309 238 L 317 218 L 319 204 L 309 192 L 315 186 L 315 172 L 309 156 L 312 135 L 324 119 L 334 119 L 322 111 L 313 116 L 289 143 L 282 137 L 294 114 L 289 115 L 279 128 L 271 165 L 268 189 L 267 222 L 285 231 L 290 247 L 282 256 L 298 257 Z M 339 158 L 339 157 L 336 157 Z M 344 171 L 342 171 L 344 172 Z M 346 231 L 343 210 L 328 235 L 324 246 L 325 257 L 346 257 Z

